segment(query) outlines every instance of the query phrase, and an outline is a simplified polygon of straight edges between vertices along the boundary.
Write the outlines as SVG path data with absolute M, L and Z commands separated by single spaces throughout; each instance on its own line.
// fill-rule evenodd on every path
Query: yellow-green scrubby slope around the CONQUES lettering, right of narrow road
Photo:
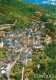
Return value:
M 52 45 L 55 44 L 55 42 L 51 43 Z M 51 45 L 49 44 L 49 45 Z M 49 46 L 47 45 L 47 46 Z M 55 46 L 53 46 L 55 48 Z M 45 48 L 46 49 L 46 48 Z M 51 48 L 50 48 L 51 50 Z M 48 50 L 49 51 L 49 50 Z M 29 80 L 55 80 L 56 79 L 56 61 L 54 58 L 49 57 L 45 52 L 40 50 L 37 50 L 33 48 L 33 53 L 36 53 L 35 55 L 33 54 L 33 59 L 32 62 L 28 62 L 27 67 L 25 68 L 24 76 L 27 76 Z M 53 51 L 52 51 L 53 52 Z M 48 53 L 51 55 L 51 53 Z M 54 56 L 54 54 L 53 54 Z M 38 69 L 37 64 L 40 64 L 40 68 Z M 35 78 L 38 75 L 51 75 L 52 78 Z

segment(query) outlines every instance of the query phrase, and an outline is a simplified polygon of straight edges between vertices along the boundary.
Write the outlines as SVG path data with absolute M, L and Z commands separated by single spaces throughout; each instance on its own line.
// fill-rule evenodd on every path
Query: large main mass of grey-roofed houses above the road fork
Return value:
M 41 29 L 45 28 L 45 25 L 41 25 Z M 6 36 L 1 40 L 0 48 L 7 48 L 8 50 L 14 49 L 15 52 L 19 52 L 23 46 L 32 45 L 35 48 L 42 47 L 41 35 L 44 31 L 37 27 L 30 26 L 26 29 L 19 29 L 13 32 L 6 33 Z M 44 38 L 45 43 L 51 43 L 51 37 Z

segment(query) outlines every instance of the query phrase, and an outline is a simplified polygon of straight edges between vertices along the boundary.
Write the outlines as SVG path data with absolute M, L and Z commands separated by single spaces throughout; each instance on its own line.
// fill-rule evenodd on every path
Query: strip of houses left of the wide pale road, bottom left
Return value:
M 16 54 L 11 54 L 10 56 L 7 57 L 6 60 L 4 60 L 3 58 L 0 59 L 0 62 L 1 61 L 3 62 L 3 64 L 1 64 L 0 69 L 2 75 L 7 73 L 7 71 L 11 67 L 11 64 L 13 63 L 13 61 L 15 61 L 16 58 L 17 58 Z

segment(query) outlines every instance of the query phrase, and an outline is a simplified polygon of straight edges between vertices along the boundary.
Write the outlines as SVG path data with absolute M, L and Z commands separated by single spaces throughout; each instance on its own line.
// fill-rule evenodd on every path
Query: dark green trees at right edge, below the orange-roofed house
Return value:
M 56 58 L 56 42 L 52 42 L 51 44 L 46 45 L 44 52 L 50 58 L 55 59 Z

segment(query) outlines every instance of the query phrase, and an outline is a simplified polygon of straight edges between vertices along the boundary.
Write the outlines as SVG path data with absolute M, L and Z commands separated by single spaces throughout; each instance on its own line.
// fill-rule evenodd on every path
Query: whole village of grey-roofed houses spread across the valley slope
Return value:
M 39 25 L 39 23 L 37 22 L 36 25 Z M 5 78 L 7 75 L 6 78 L 10 80 L 9 74 L 15 63 L 18 62 L 27 66 L 27 61 L 32 61 L 32 48 L 40 49 L 44 47 L 44 44 L 52 42 L 52 38 L 45 34 L 44 29 L 45 25 L 42 23 L 40 28 L 32 25 L 25 29 L 14 30 L 13 32 L 5 33 L 1 31 L 0 36 L 4 38 L 0 40 L 0 48 L 11 51 L 5 59 L 3 57 L 0 58 L 1 76 Z

